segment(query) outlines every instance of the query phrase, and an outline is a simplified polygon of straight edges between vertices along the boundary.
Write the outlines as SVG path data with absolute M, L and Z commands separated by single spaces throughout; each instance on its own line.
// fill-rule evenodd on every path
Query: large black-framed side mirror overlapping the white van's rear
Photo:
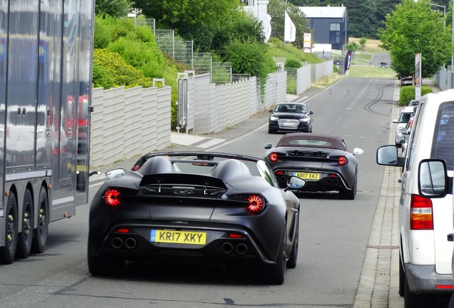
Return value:
M 418 168 L 418 193 L 423 197 L 445 197 L 448 173 L 445 160 L 424 159 Z

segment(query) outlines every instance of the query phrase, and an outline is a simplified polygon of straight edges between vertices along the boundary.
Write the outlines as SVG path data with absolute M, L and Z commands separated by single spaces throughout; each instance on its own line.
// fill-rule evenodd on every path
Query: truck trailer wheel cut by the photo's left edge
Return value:
M 4 246 L 0 247 L 0 263 L 10 264 L 16 256 L 17 247 L 17 202 L 16 195 L 9 193 L 5 208 Z

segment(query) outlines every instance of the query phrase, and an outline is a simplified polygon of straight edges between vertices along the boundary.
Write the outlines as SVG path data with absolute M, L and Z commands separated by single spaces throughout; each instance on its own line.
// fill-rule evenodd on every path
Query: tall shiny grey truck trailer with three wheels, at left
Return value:
M 88 201 L 94 0 L 0 0 L 0 263 Z

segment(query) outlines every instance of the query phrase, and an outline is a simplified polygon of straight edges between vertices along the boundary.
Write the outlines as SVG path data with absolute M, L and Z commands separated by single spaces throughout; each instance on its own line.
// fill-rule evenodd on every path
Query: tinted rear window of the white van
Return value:
M 433 138 L 432 158 L 444 159 L 448 170 L 454 169 L 454 101 L 440 105 L 435 135 Z

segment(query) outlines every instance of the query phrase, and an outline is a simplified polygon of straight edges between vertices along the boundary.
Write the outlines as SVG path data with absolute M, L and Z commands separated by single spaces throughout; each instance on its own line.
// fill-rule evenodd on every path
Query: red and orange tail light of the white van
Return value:
M 432 200 L 411 195 L 410 229 L 433 230 Z

